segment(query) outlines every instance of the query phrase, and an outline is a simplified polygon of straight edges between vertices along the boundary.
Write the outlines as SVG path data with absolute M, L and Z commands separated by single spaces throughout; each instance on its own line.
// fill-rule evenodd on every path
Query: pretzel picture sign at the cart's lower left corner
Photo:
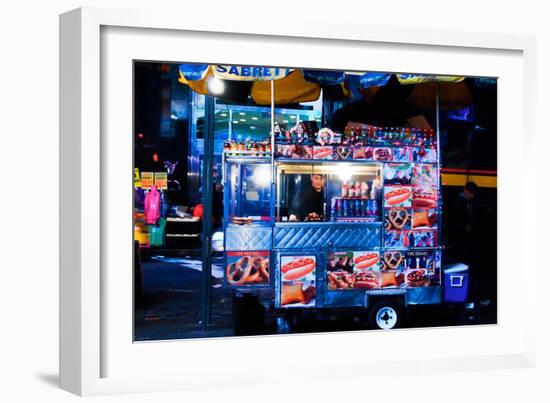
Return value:
M 269 284 L 268 251 L 226 252 L 225 281 L 229 286 Z

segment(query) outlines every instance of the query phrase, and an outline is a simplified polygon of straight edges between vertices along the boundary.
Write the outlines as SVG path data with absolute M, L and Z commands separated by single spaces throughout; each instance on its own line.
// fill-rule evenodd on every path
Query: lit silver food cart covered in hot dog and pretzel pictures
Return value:
M 365 308 L 379 328 L 442 302 L 437 131 L 349 123 L 224 147 L 225 285 L 279 331 L 303 310 Z

